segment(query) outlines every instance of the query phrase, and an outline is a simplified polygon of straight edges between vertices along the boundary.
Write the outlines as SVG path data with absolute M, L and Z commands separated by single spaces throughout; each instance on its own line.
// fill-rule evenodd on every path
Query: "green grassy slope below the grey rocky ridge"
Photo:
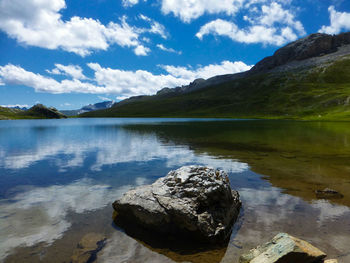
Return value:
M 350 56 L 327 67 L 255 75 L 178 96 L 149 96 L 82 117 L 350 120 Z

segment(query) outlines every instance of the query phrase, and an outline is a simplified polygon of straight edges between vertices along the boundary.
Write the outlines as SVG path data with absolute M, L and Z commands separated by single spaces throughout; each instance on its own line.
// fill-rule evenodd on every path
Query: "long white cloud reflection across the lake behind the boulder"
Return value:
M 48 134 L 42 134 L 32 141 L 30 148 L 22 147 L 27 138 L 21 136 L 16 138 L 16 152 L 5 154 L 6 149 L 0 144 L 0 154 L 4 157 L 0 159 L 0 168 L 24 169 L 52 158 L 56 167 L 65 171 L 67 168 L 86 165 L 85 161 L 91 153 L 95 155 L 95 160 L 88 165 L 94 171 L 101 171 L 105 165 L 148 162 L 154 159 L 166 160 L 168 167 L 199 163 L 215 165 L 230 172 L 240 172 L 248 168 L 246 164 L 230 159 L 217 159 L 205 153 L 198 156 L 187 146 L 164 146 L 156 135 L 135 136 L 135 133 L 123 129 L 122 125 L 82 126 L 80 129 L 74 127 L 74 132 L 71 127 L 55 130 L 40 128 L 40 131 Z M 4 133 L 4 138 L 9 136 L 14 136 L 12 129 Z M 57 158 L 59 155 L 62 156 Z

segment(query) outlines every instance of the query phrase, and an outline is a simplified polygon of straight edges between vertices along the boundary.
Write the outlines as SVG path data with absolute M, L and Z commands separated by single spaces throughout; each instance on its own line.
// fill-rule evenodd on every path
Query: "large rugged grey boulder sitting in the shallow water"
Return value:
M 229 238 L 241 201 L 224 171 L 184 166 L 128 191 L 113 207 L 116 221 L 131 227 L 216 243 Z

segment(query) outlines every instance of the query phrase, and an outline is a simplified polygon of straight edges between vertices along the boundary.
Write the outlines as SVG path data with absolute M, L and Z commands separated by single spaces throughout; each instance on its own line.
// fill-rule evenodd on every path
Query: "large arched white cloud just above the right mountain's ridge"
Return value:
M 250 25 L 243 29 L 231 21 L 216 19 L 203 25 L 196 36 L 202 40 L 205 35 L 213 34 L 226 36 L 241 43 L 280 46 L 305 34 L 301 22 L 297 21 L 290 11 L 284 10 L 275 2 L 261 6 L 260 15 L 245 16 L 244 19 Z

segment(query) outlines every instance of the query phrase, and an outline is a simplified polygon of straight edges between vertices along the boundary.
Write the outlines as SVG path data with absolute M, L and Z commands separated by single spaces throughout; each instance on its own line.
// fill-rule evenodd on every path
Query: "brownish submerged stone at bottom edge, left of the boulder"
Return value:
M 105 236 L 97 233 L 86 234 L 73 251 L 71 263 L 91 263 L 96 259 L 96 254 L 104 247 Z

